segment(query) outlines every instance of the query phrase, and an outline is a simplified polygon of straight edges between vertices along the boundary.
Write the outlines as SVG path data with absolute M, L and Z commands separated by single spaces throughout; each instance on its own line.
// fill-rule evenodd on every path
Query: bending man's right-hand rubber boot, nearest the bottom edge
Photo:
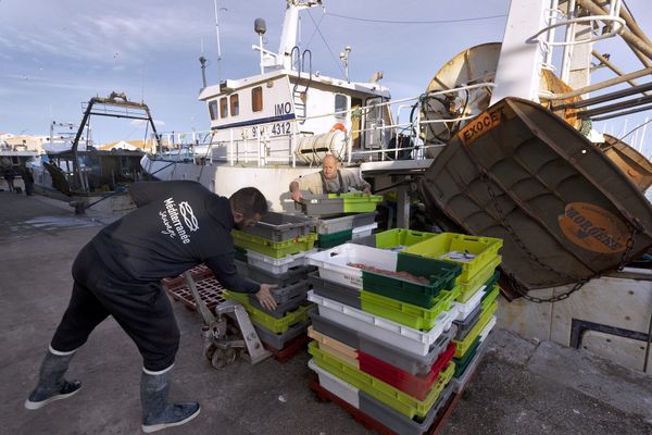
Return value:
M 151 433 L 165 427 L 179 426 L 199 415 L 198 402 L 168 403 L 170 372 L 142 373 L 140 402 L 142 406 L 142 432 Z

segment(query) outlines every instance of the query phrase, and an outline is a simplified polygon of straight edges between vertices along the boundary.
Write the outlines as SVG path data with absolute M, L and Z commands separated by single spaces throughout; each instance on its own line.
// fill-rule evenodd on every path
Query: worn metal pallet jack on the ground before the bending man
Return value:
M 201 327 L 203 353 L 215 369 L 225 368 L 239 356 L 251 364 L 258 364 L 272 356 L 263 347 L 249 314 L 240 303 L 226 300 L 217 304 L 213 313 L 199 296 L 190 272 L 185 272 L 184 277 L 204 322 Z

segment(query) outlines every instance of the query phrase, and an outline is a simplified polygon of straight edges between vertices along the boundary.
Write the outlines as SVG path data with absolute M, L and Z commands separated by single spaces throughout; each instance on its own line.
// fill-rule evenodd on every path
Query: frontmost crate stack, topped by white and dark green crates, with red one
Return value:
M 309 262 L 318 266 L 309 366 L 321 388 L 394 433 L 426 433 L 452 395 L 461 266 L 354 244 Z

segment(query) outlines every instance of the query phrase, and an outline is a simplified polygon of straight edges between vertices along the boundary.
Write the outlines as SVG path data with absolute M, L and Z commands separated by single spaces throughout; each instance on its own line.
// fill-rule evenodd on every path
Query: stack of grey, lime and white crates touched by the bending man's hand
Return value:
M 306 301 L 305 256 L 314 252 L 316 235 L 312 219 L 287 213 L 267 213 L 255 226 L 234 229 L 236 265 L 240 275 L 259 284 L 276 284 L 272 290 L 275 310 L 264 308 L 254 295 L 224 291 L 226 299 L 242 303 L 269 350 L 281 351 L 305 336 L 310 319 Z

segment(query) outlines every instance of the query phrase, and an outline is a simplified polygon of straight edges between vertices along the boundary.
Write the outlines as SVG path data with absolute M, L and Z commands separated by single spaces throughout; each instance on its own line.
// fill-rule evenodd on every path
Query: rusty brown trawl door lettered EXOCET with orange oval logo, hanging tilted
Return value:
M 527 100 L 507 98 L 478 115 L 419 187 L 449 227 L 504 239 L 503 275 L 522 294 L 589 279 L 652 244 L 652 208 L 631 179 Z

